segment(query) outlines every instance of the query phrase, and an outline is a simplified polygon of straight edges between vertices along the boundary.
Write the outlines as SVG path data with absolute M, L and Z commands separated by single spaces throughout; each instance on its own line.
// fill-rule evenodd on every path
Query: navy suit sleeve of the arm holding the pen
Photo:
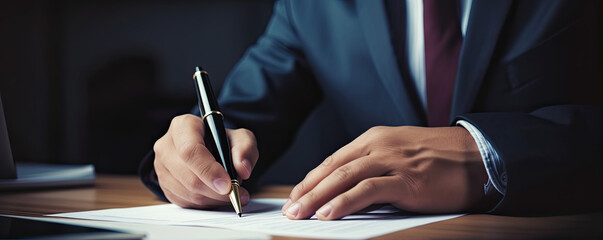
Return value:
M 277 1 L 264 34 L 226 78 L 218 102 L 229 128 L 247 128 L 257 140 L 260 158 L 245 185 L 258 177 L 292 143 L 299 126 L 319 104 L 322 93 L 306 62 L 288 1 Z M 153 154 L 140 176 L 158 196 Z M 252 189 L 251 189 L 252 190 Z

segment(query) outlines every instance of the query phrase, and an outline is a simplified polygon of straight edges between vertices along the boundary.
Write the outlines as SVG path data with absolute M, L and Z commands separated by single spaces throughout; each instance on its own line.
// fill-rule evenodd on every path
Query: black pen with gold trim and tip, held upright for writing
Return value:
M 237 171 L 232 164 L 230 144 L 228 143 L 228 138 L 226 138 L 224 115 L 222 115 L 218 107 L 218 102 L 211 88 L 207 72 L 200 67 L 195 67 L 193 80 L 195 81 L 195 89 L 197 89 L 199 112 L 205 126 L 205 146 L 230 176 L 231 184 L 228 197 L 235 212 L 241 217 L 242 208 L 241 198 L 239 197 L 239 181 L 237 180 Z

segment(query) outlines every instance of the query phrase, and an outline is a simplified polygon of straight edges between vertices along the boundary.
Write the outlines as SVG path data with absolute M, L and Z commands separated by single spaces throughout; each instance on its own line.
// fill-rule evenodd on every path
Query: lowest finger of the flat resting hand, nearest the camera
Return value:
M 358 212 L 371 204 L 395 202 L 399 195 L 400 178 L 384 176 L 361 181 L 352 189 L 335 197 L 316 211 L 320 220 L 340 219 Z

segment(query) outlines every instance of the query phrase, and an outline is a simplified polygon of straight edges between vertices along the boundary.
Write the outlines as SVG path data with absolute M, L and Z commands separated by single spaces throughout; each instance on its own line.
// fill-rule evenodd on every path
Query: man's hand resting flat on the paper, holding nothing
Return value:
M 468 210 L 488 177 L 462 127 L 374 127 L 310 171 L 283 206 L 290 219 L 342 218 L 371 204 L 422 213 Z

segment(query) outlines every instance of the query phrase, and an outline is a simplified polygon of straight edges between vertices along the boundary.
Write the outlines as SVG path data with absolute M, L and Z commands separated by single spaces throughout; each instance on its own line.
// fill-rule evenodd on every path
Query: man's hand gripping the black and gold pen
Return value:
M 167 199 L 185 208 L 210 208 L 230 204 L 230 177 L 214 159 L 203 141 L 201 118 L 186 114 L 175 117 L 167 133 L 155 145 L 155 171 Z M 238 176 L 248 179 L 258 160 L 253 133 L 246 129 L 226 130 Z M 249 192 L 240 188 L 241 203 Z

